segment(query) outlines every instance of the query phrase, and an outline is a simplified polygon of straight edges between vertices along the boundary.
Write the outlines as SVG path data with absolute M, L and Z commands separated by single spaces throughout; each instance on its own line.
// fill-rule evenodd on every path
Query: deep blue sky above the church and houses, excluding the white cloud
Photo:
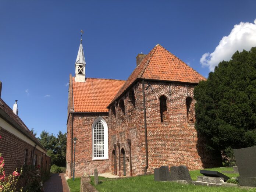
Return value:
M 207 77 L 200 64 L 235 24 L 253 23 L 256 1 L 0 0 L 2 99 L 38 135 L 66 132 L 69 74 L 83 35 L 86 76 L 127 79 L 156 44 Z M 256 46 L 256 45 L 255 45 Z M 236 47 L 235 47 L 236 48 Z

